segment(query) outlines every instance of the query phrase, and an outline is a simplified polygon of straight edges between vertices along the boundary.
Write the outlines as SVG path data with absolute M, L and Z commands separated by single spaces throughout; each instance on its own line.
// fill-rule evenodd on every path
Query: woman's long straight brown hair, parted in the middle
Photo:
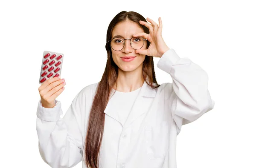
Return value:
M 102 75 L 97 88 L 96 94 L 93 99 L 93 104 L 90 111 L 90 116 L 88 120 L 87 135 L 85 140 L 85 147 L 83 151 L 83 161 L 88 168 L 98 168 L 99 161 L 99 150 L 102 142 L 102 136 L 104 131 L 105 123 L 105 113 L 104 110 L 108 104 L 108 99 L 111 94 L 111 89 L 116 85 L 118 66 L 114 63 L 112 58 L 111 46 L 108 40 L 111 40 L 113 28 L 116 24 L 123 21 L 130 20 L 137 23 L 144 32 L 149 34 L 149 30 L 144 25 L 139 23 L 140 20 L 145 20 L 145 18 L 134 11 L 121 11 L 117 14 L 108 26 L 107 39 L 106 39 L 106 50 L 108 53 L 108 60 L 106 63 L 105 71 Z M 147 48 L 150 42 L 147 40 Z M 154 72 L 154 62 L 152 56 L 145 56 L 143 61 L 143 78 L 151 88 L 157 88 L 160 85 L 157 84 L 157 80 Z M 148 78 L 148 80 L 146 80 Z M 153 85 L 153 83 L 157 85 Z

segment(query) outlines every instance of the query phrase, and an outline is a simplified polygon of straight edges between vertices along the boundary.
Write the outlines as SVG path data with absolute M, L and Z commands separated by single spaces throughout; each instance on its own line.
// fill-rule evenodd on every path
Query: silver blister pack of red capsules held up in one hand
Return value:
M 39 84 L 52 77 L 61 76 L 63 57 L 61 53 L 44 51 Z

